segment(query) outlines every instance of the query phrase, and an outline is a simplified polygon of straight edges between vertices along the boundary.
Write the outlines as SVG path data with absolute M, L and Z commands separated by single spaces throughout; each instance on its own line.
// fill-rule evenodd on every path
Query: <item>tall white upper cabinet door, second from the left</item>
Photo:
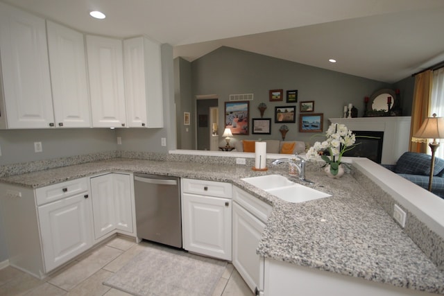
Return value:
M 89 94 L 83 34 L 46 21 L 56 125 L 89 128 Z

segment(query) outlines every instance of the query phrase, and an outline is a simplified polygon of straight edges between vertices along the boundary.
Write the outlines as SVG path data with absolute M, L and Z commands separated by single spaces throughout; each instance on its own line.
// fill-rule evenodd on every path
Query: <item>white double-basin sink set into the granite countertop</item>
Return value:
M 322 191 L 291 182 L 281 175 L 248 177 L 242 180 L 287 202 L 307 202 L 309 200 L 317 200 L 319 198 L 332 196 Z

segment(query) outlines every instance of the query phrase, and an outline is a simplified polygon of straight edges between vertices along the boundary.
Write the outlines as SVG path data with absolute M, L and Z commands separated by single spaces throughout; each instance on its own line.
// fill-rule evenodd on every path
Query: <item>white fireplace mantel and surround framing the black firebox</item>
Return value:
M 343 123 L 349 130 L 384 132 L 382 164 L 395 164 L 402 153 L 409 150 L 411 116 L 381 116 L 329 119 Z

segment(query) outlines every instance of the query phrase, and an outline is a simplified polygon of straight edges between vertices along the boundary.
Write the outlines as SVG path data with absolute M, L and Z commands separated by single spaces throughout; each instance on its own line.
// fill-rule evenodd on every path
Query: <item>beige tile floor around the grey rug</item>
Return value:
M 104 286 L 102 282 L 147 246 L 148 243 L 136 244 L 134 239 L 115 236 L 43 280 L 8 266 L 0 270 L 0 296 L 128 296 L 128 293 Z M 214 290 L 215 295 L 252 296 L 253 293 L 228 263 Z

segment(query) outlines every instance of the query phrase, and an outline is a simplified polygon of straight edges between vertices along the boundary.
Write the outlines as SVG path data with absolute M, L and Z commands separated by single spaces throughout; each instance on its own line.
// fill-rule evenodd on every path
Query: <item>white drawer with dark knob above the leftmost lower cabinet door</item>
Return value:
M 71 180 L 35 189 L 37 205 L 46 204 L 68 196 L 88 191 L 86 178 Z

